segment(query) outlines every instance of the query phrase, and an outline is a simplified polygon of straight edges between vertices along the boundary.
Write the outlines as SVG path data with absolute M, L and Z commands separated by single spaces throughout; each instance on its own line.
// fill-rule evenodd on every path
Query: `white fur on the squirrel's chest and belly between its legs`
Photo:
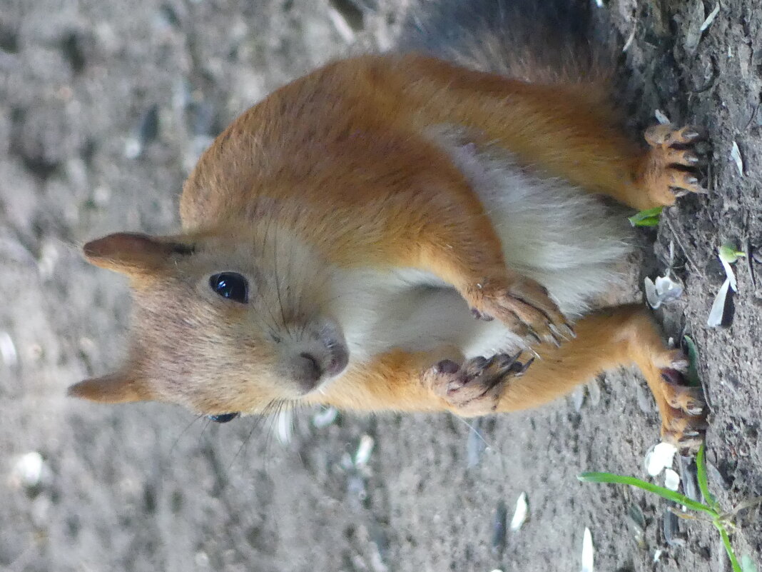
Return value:
M 622 281 L 618 263 L 632 246 L 621 214 L 567 182 L 523 169 L 502 151 L 477 151 L 456 139 L 436 137 L 482 199 L 510 268 L 545 285 L 572 319 Z M 474 320 L 463 298 L 428 272 L 338 271 L 335 288 L 335 317 L 354 363 L 390 349 L 443 343 L 456 345 L 466 358 L 523 347 L 497 321 Z

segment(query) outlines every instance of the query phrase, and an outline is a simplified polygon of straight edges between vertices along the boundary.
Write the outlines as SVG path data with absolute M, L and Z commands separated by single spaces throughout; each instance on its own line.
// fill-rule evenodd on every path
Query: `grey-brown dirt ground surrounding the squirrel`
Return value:
M 575 478 L 645 477 L 658 416 L 634 374 L 482 419 L 479 433 L 446 415 L 313 411 L 295 414 L 293 432 L 287 419 L 216 426 L 176 407 L 65 397 L 117 365 L 130 307 L 123 278 L 85 264 L 78 245 L 175 230 L 181 183 L 210 137 L 319 63 L 392 45 L 405 4 L 2 2 L 0 570 L 579 570 L 585 527 L 597 570 L 729 570 L 708 523 L 665 533 L 665 503 Z M 724 278 L 716 247 L 762 243 L 762 8 L 724 0 L 701 31 L 715 5 L 601 9 L 629 39 L 632 129 L 658 109 L 706 127 L 713 145 L 709 194 L 664 215 L 650 269 L 664 272 L 673 243 L 686 292 L 661 314 L 698 346 L 710 486 L 729 508 L 762 495 L 762 266 L 736 265 L 730 323 L 706 318 Z M 522 492 L 530 519 L 501 534 Z M 762 564 L 760 509 L 737 524 L 738 553 Z

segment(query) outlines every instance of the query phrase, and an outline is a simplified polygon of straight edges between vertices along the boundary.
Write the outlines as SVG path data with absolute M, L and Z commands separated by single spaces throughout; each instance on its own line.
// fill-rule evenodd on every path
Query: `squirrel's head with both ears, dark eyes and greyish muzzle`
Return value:
M 347 366 L 329 310 L 330 267 L 284 230 L 117 233 L 84 253 L 130 277 L 130 349 L 120 370 L 81 381 L 70 395 L 180 403 L 210 416 L 255 413 L 319 391 Z

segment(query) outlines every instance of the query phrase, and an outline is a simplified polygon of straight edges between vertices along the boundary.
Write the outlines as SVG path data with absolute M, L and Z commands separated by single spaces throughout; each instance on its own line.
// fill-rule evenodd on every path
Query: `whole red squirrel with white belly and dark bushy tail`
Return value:
M 277 89 L 200 157 L 180 233 L 85 244 L 130 278 L 131 336 L 69 394 L 220 423 L 284 403 L 480 416 L 636 365 L 662 439 L 695 449 L 686 356 L 645 306 L 596 300 L 633 249 L 600 196 L 700 192 L 700 130 L 631 140 L 597 36 L 582 2 L 443 0 L 395 50 Z

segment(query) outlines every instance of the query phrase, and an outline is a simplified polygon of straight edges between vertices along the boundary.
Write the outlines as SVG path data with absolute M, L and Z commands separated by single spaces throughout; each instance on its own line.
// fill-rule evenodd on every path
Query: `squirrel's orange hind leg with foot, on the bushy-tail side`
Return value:
M 450 79 L 459 86 L 458 79 Z M 651 127 L 645 131 L 644 150 L 629 140 L 616 113 L 607 110 L 604 101 L 610 96 L 599 85 L 498 84 L 494 77 L 472 76 L 460 81 L 463 88 L 468 81 L 471 98 L 450 103 L 459 123 L 482 130 L 485 140 L 504 146 L 533 169 L 638 210 L 668 206 L 680 194 L 703 191 L 693 172 L 700 163 L 694 148 L 700 131 L 693 127 Z M 495 98 L 496 93 L 502 97 Z M 591 104 L 591 98 L 597 102 Z

